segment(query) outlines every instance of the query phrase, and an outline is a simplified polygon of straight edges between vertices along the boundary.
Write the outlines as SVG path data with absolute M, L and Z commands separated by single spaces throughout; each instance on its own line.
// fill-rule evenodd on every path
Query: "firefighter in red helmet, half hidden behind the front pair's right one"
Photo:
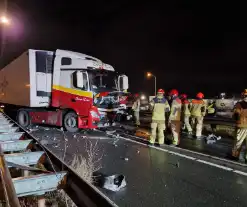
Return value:
M 188 131 L 189 135 L 192 135 L 192 128 L 190 125 L 190 102 L 187 99 L 186 94 L 180 95 L 181 101 L 182 101 L 182 119 L 184 124 L 184 129 Z

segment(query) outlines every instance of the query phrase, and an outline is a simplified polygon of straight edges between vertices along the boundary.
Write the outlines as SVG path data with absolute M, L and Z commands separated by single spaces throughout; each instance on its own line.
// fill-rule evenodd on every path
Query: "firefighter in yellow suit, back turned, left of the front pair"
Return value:
M 164 144 L 165 117 L 166 113 L 170 111 L 170 106 L 164 97 L 164 93 L 163 89 L 159 89 L 157 96 L 150 102 L 150 108 L 152 110 L 150 145 L 154 145 L 155 143 L 157 129 L 158 143 L 159 145 Z

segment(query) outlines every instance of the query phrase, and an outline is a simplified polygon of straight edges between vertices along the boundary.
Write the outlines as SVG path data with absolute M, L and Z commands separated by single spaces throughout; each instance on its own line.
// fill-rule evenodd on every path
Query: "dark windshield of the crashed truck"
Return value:
M 91 86 L 94 91 L 117 90 L 117 74 L 112 71 L 97 70 L 90 74 Z

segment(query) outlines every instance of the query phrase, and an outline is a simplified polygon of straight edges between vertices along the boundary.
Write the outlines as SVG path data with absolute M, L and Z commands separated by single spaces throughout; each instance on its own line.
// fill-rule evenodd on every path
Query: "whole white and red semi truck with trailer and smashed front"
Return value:
M 0 70 L 0 105 L 16 112 L 22 127 L 49 124 L 70 132 L 97 128 L 107 115 L 100 111 L 116 114 L 121 108 L 118 94 L 127 89 L 128 77 L 112 66 L 66 50 L 29 49 Z

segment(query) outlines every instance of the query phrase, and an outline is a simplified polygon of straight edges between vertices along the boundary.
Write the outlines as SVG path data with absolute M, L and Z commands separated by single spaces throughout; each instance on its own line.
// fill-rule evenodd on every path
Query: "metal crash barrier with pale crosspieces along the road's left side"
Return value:
M 13 170 L 22 175 L 12 178 Z M 45 206 L 47 192 L 63 189 L 77 206 L 116 206 L 96 187 L 53 154 L 47 147 L 0 112 L 0 204 L 19 207 L 18 198 L 37 196 Z

